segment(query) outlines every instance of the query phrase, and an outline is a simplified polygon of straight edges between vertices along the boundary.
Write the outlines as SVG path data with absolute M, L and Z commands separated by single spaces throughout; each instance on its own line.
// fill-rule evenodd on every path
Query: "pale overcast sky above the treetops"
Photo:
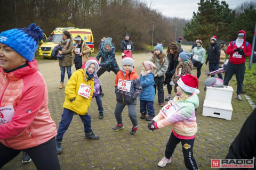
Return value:
M 148 6 L 151 3 L 151 8 L 158 10 L 165 16 L 191 19 L 193 12 L 198 10 L 197 3 L 200 0 L 141 0 L 141 2 L 146 2 Z M 244 2 L 250 2 L 250 0 L 226 0 L 230 9 L 234 9 Z

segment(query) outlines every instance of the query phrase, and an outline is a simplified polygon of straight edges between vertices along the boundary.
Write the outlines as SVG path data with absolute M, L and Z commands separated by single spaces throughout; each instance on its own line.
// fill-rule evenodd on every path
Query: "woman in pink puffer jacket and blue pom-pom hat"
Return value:
M 46 82 L 34 60 L 42 38 L 35 23 L 0 33 L 0 169 L 21 151 L 37 169 L 60 169 Z

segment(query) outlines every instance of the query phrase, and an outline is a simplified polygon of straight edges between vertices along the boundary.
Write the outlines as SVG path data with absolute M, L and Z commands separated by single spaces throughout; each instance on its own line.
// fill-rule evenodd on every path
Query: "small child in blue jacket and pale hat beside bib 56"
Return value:
M 155 117 L 155 75 L 156 65 L 150 61 L 142 63 L 142 72 L 140 74 L 140 81 L 142 84 L 142 91 L 139 95 L 140 99 L 140 118 L 144 119 L 148 111 L 147 121 L 151 121 Z

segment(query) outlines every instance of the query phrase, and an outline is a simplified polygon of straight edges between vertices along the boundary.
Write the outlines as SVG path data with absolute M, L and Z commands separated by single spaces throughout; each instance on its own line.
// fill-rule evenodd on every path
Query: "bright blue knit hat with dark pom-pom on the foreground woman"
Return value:
M 31 62 L 35 57 L 38 42 L 44 37 L 43 31 L 35 23 L 28 28 L 14 28 L 0 33 L 0 43 L 5 44 Z

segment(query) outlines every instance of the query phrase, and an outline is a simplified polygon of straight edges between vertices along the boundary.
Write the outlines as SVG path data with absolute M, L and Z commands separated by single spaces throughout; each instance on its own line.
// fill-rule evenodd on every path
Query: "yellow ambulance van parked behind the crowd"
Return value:
M 74 38 L 79 35 L 82 37 L 83 41 L 92 49 L 91 53 L 94 51 L 93 35 L 91 29 L 79 29 L 75 27 L 60 28 L 57 27 L 52 31 L 51 35 L 46 39 L 46 41 L 39 47 L 39 56 L 44 58 L 51 58 L 52 49 L 58 45 L 62 37 L 62 32 L 67 30 L 71 37 Z M 76 46 L 75 41 L 73 41 L 74 46 Z

